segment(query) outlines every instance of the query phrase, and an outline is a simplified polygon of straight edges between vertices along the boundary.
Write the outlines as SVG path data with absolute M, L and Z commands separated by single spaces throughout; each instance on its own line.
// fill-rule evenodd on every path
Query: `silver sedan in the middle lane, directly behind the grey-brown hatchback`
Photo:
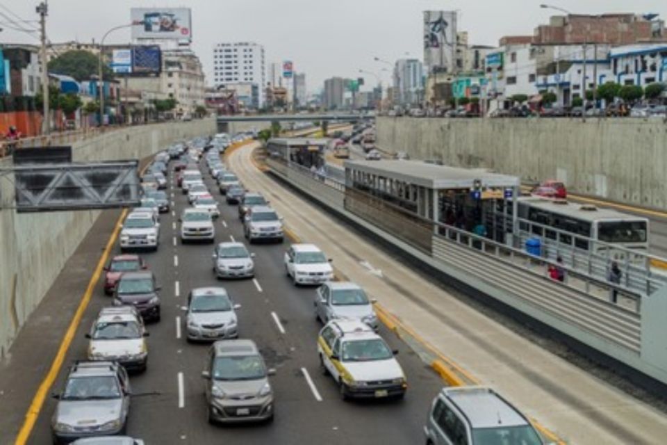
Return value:
M 192 289 L 188 296 L 186 332 L 188 341 L 236 339 L 238 318 L 235 305 L 224 287 L 200 287 Z

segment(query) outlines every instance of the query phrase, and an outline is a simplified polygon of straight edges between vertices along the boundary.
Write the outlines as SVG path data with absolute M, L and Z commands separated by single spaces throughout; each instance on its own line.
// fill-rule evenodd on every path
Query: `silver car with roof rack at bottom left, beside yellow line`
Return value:
M 124 434 L 130 410 L 130 381 L 115 362 L 79 362 L 69 369 L 51 419 L 53 443 L 80 437 Z

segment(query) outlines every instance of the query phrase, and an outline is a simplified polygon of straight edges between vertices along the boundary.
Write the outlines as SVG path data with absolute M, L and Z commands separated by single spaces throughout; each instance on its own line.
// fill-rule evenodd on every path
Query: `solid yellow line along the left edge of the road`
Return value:
M 109 254 L 113 249 L 113 245 L 115 244 L 116 238 L 118 237 L 118 233 L 120 232 L 122 220 L 123 218 L 125 218 L 126 214 L 127 214 L 126 209 L 124 209 L 120 213 L 120 217 L 117 220 L 117 223 L 113 229 L 111 237 L 109 238 L 109 241 L 106 243 L 106 248 L 104 248 L 104 253 L 99 259 L 99 262 L 97 263 L 97 267 L 95 268 L 92 277 L 90 277 L 90 281 L 88 282 L 88 287 L 86 287 L 85 289 L 85 293 L 83 293 L 83 298 L 79 303 L 79 307 L 76 308 L 74 317 L 72 318 L 72 321 L 69 322 L 69 327 L 67 327 L 67 331 L 65 332 L 65 337 L 63 337 L 63 341 L 60 343 L 60 347 L 58 348 L 58 353 L 56 354 L 56 357 L 53 359 L 53 363 L 51 363 L 51 368 L 49 369 L 49 372 L 47 373 L 46 377 L 44 377 L 44 380 L 42 380 L 40 387 L 38 388 L 37 392 L 35 393 L 35 396 L 33 397 L 33 401 L 30 407 L 28 407 L 28 412 L 26 412 L 26 418 L 24 420 L 23 425 L 21 426 L 21 430 L 19 430 L 19 434 L 16 437 L 16 441 L 14 442 L 15 445 L 24 445 L 26 444 L 26 442 L 28 442 L 28 438 L 30 437 L 31 432 L 35 427 L 35 422 L 37 421 L 40 411 L 44 406 L 44 401 L 47 398 L 47 393 L 49 392 L 49 389 L 53 385 L 53 382 L 56 381 L 56 377 L 58 376 L 60 369 L 63 367 L 63 362 L 65 361 L 65 355 L 67 355 L 69 346 L 72 345 L 72 339 L 74 339 L 74 334 L 76 334 L 76 329 L 79 327 L 79 324 L 81 323 L 81 318 L 83 318 L 83 313 L 85 312 L 85 309 L 88 307 L 88 303 L 90 302 L 92 293 L 95 289 L 95 286 L 97 286 L 97 282 L 99 281 L 99 277 L 101 276 L 104 264 L 106 264 Z

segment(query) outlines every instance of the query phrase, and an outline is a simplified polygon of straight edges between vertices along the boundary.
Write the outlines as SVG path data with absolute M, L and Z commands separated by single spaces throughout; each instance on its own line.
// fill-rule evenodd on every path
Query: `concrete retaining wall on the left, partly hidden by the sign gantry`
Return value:
M 154 124 L 110 131 L 74 144 L 72 151 L 74 161 L 142 159 L 176 140 L 213 133 L 213 119 Z M 9 159 L 0 161 L 0 168 L 8 166 Z M 8 179 L 0 177 L 2 207 L 14 200 Z M 0 210 L 0 358 L 100 213 Z

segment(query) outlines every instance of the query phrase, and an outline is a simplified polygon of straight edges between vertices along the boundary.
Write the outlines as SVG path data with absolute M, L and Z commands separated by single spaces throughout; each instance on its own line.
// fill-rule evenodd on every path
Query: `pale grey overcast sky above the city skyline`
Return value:
M 665 0 L 552 0 L 573 13 L 659 13 L 667 18 Z M 539 0 L 49 0 L 47 35 L 51 42 L 99 40 L 111 27 L 129 23 L 130 8 L 188 6 L 192 8 L 193 49 L 204 63 L 207 82 L 213 70 L 215 42 L 254 41 L 263 44 L 267 64 L 293 60 L 306 73 L 309 91 L 322 88 L 330 76 L 359 76 L 359 69 L 377 72 L 389 81 L 386 65 L 406 55 L 422 59 L 422 11 L 459 10 L 459 31 L 470 43 L 497 45 L 502 35 L 532 34 L 554 11 Z M 37 0 L 0 0 L 25 20 L 36 20 Z M 632 8 L 632 9 L 631 9 Z M 0 42 L 38 43 L 38 34 L 16 26 L 0 14 Z M 22 26 L 36 27 L 37 22 Z M 129 30 L 111 34 L 106 42 L 129 42 Z M 375 83 L 373 76 L 367 84 Z

